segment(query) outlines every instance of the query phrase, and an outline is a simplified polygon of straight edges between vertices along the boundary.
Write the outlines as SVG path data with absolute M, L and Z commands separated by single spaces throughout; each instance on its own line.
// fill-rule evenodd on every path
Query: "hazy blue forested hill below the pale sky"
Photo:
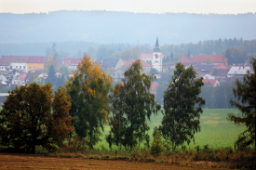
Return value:
M 85 41 L 99 44 L 197 43 L 219 38 L 256 38 L 256 13 L 238 15 L 55 11 L 0 13 L 0 43 Z

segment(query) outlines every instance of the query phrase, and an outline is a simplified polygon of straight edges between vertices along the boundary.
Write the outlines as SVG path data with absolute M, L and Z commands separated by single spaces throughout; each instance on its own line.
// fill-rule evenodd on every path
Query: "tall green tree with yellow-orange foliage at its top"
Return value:
M 112 78 L 101 72 L 101 65 L 84 55 L 66 85 L 72 102 L 70 114 L 74 117 L 75 132 L 88 139 L 90 149 L 100 140 L 101 130 L 107 124 L 111 82 Z

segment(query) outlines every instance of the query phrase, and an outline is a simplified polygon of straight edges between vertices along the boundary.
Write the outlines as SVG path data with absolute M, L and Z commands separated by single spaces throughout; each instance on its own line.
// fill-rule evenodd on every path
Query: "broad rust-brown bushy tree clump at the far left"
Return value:
M 64 88 L 53 94 L 50 84 L 21 85 L 9 92 L 4 104 L 0 112 L 4 148 L 34 153 L 36 146 L 42 146 L 53 151 L 73 131 L 71 103 Z

